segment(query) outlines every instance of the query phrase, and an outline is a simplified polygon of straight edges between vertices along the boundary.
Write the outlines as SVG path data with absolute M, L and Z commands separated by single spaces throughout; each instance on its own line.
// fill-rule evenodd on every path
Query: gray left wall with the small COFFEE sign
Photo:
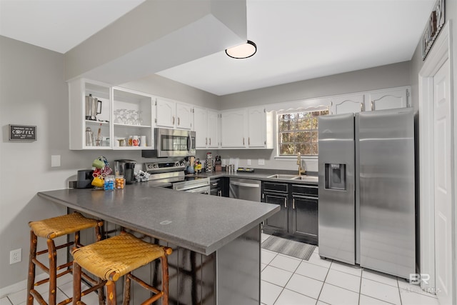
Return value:
M 139 151 L 70 151 L 64 79 L 64 55 L 0 36 L 0 296 L 11 285 L 26 280 L 27 223 L 65 213 L 62 206 L 39 199 L 38 191 L 68 187 L 68 181 L 76 179 L 76 171 L 91 169 L 92 161 L 101 154 L 109 161 L 145 160 Z M 189 86 L 159 77 L 148 81 L 157 95 L 201 106 L 214 102 L 214 95 Z M 141 81 L 138 89 L 148 91 Z M 10 142 L 8 124 L 35 125 L 37 141 Z M 60 167 L 51 168 L 51 155 L 61 155 Z M 44 246 L 46 243 L 40 249 Z M 21 263 L 10 265 L 9 251 L 19 248 Z

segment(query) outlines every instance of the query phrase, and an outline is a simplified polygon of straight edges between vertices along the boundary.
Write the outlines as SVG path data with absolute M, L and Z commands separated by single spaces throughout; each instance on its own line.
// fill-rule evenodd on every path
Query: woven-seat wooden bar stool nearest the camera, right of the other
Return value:
M 106 286 L 106 304 L 116 305 L 116 281 L 125 275 L 124 303 L 130 304 L 130 282 L 136 281 L 144 289 L 154 292 L 154 295 L 141 304 L 152 304 L 162 299 L 163 305 L 169 304 L 169 265 L 167 256 L 171 248 L 150 244 L 135 236 L 121 232 L 120 235 L 98 241 L 89 246 L 74 249 L 73 254 L 73 304 L 84 305 L 80 301 L 84 292 L 81 292 L 81 267 L 89 273 L 104 280 L 98 286 Z M 161 261 L 162 289 L 156 289 L 137 278 L 131 271 L 149 264 L 155 259 Z M 95 288 L 95 287 L 94 287 Z

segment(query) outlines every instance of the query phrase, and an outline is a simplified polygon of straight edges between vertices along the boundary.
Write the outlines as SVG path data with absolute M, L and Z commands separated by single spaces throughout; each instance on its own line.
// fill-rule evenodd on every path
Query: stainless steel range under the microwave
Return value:
M 186 176 L 184 161 L 145 163 L 144 170 L 150 175 L 149 184 L 176 191 L 210 194 L 209 178 Z

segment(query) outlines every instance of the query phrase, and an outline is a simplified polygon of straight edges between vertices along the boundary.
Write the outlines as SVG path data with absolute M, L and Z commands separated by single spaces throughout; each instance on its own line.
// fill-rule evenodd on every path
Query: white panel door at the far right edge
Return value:
M 451 100 L 449 60 L 433 76 L 435 268 L 440 304 L 452 304 Z

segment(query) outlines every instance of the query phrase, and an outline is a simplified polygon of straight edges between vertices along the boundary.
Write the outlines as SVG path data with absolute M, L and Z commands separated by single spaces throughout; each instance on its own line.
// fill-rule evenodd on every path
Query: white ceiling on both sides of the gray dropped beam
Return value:
M 0 35 L 65 53 L 144 0 L 0 0 Z M 247 0 L 257 53 L 158 74 L 216 95 L 408 61 L 435 0 Z

